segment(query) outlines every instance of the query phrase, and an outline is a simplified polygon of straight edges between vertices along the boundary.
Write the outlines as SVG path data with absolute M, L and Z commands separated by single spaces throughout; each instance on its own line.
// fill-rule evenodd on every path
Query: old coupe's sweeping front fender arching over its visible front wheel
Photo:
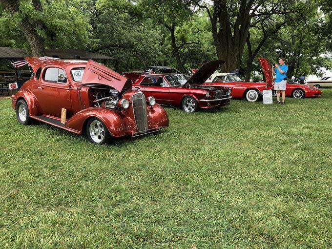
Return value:
M 122 137 L 129 134 L 128 130 L 132 126 L 129 120 L 118 111 L 103 107 L 90 107 L 73 115 L 67 121 L 66 127 L 82 133 L 86 122 L 92 117 L 100 119 L 106 125 L 109 133 L 114 137 Z

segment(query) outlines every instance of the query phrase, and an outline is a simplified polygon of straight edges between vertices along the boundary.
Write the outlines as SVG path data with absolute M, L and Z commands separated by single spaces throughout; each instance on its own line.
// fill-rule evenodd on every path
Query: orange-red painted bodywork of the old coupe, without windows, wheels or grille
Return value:
M 71 132 L 81 134 L 85 124 L 91 117 L 99 118 L 106 125 L 114 137 L 137 134 L 132 96 L 138 93 L 131 89 L 130 80 L 112 71 L 104 65 L 93 61 L 82 60 L 56 60 L 52 58 L 25 58 L 30 65 L 36 69 L 42 68 L 40 76 L 34 77 L 25 82 L 17 94 L 12 96 L 12 107 L 24 99 L 28 105 L 31 118 L 42 122 L 61 127 Z M 45 80 L 45 72 L 48 68 L 58 68 L 65 72 L 65 82 L 50 82 Z M 82 81 L 75 81 L 71 75 L 72 69 L 84 70 Z M 60 71 L 59 71 L 60 72 Z M 59 73 L 60 74 L 60 73 Z M 110 90 L 117 92 L 119 99 L 126 98 L 129 101 L 129 108 L 106 108 L 94 106 L 93 90 L 102 88 L 102 91 Z M 147 96 L 146 96 L 147 97 Z M 41 118 L 48 117 L 51 121 L 59 121 L 61 109 L 67 109 L 66 124 L 45 121 Z M 157 131 L 168 126 L 168 116 L 163 107 L 158 104 L 146 105 L 147 130 Z M 144 133 L 144 132 L 141 132 Z

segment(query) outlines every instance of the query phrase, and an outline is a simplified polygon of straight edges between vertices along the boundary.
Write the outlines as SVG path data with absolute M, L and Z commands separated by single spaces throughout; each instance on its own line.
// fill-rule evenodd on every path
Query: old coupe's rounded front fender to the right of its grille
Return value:
M 169 121 L 165 109 L 159 104 L 153 106 L 146 106 L 147 122 L 149 129 L 157 127 L 168 127 Z

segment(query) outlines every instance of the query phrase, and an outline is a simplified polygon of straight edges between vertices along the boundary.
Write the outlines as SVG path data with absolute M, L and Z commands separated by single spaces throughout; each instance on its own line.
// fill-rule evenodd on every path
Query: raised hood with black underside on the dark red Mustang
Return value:
M 218 69 L 220 65 L 225 63 L 224 61 L 216 60 L 205 63 L 187 80 L 183 87 L 194 84 L 203 84 Z

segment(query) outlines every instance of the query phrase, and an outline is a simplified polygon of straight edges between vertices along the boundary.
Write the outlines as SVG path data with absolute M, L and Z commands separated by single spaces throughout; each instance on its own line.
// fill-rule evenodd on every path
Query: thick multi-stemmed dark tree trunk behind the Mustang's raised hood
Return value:
M 189 2 L 206 9 L 217 56 L 226 62 L 223 70 L 227 72 L 239 68 L 250 27 L 297 12 L 290 0 L 213 0 L 212 6 L 204 0 Z M 276 23 L 276 29 L 280 24 Z M 261 42 L 269 36 L 265 34 Z

